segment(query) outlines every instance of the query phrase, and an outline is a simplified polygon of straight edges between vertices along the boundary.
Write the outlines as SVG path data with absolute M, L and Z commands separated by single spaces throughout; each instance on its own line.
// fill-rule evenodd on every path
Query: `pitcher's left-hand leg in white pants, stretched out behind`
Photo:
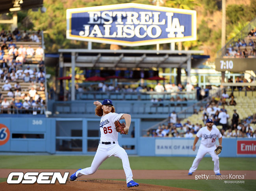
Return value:
M 96 154 L 93 158 L 93 162 L 90 167 L 84 168 L 76 172 L 76 176 L 80 177 L 82 175 L 91 175 L 98 170 L 98 167 L 102 164 L 104 160 L 108 158 L 107 150 L 102 147 L 98 147 Z

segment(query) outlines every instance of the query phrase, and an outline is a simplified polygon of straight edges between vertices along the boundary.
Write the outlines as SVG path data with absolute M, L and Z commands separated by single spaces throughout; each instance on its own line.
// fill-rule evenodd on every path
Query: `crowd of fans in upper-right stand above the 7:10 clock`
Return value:
M 238 39 L 234 44 L 230 44 L 226 49 L 225 56 L 234 58 L 256 57 L 256 27 L 250 30 L 245 39 Z

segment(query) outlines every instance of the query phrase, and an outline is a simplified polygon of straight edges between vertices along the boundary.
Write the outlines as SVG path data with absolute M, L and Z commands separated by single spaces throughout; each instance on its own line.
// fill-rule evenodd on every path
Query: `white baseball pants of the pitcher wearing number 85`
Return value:
M 99 144 L 96 154 L 94 156 L 93 162 L 91 164 L 91 167 L 87 167 L 80 171 L 77 171 L 76 176 L 80 177 L 82 175 L 92 175 L 98 170 L 102 162 L 104 162 L 104 160 L 106 160 L 110 156 L 115 156 L 122 160 L 122 167 L 126 175 L 126 183 L 133 180 L 132 169 L 130 168 L 128 155 L 125 152 L 125 150 L 119 146 L 117 141 L 115 141 L 115 144 L 109 144 L 109 145 Z

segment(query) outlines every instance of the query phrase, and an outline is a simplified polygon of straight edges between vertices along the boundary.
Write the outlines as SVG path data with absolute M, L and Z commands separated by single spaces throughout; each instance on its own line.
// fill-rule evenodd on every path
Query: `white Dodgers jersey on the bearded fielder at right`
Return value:
M 202 127 L 197 132 L 197 137 L 202 137 L 201 144 L 205 147 L 213 147 L 216 143 L 216 138 L 221 138 L 221 132 L 216 127 L 212 127 L 211 131 L 207 129 L 207 126 Z

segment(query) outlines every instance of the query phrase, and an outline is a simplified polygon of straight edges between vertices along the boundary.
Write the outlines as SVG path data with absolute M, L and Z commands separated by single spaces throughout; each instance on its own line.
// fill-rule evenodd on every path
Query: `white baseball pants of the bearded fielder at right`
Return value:
M 193 173 L 196 171 L 200 161 L 202 160 L 204 155 L 206 155 L 206 153 L 209 153 L 211 155 L 212 161 L 214 162 L 214 168 L 213 168 L 214 173 L 215 174 L 220 173 L 220 171 L 219 171 L 219 156 L 216 155 L 216 153 L 214 153 L 215 149 L 216 149 L 216 146 L 205 147 L 203 145 L 200 145 L 198 152 L 197 152 L 197 156 L 194 159 L 191 168 L 189 169 L 189 173 Z

